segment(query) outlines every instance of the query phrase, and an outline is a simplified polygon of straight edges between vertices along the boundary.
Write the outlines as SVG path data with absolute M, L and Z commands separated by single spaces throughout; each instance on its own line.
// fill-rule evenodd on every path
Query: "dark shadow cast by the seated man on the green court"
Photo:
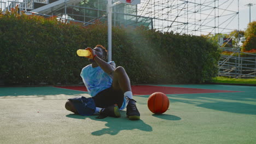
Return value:
M 85 119 L 85 118 L 91 118 L 95 121 L 101 121 L 101 122 L 107 122 L 105 125 L 108 128 L 103 128 L 101 130 L 97 130 L 92 132 L 92 135 L 117 135 L 119 131 L 121 130 L 133 130 L 133 129 L 139 129 L 142 131 L 152 131 L 152 127 L 146 123 L 144 123 L 141 119 L 131 121 L 130 119 L 126 118 L 126 112 L 120 111 L 121 117 L 120 118 L 114 118 L 114 117 L 106 117 L 104 119 L 98 119 L 97 116 L 79 116 L 74 114 L 66 115 L 66 117 L 70 118 L 78 118 L 78 119 Z

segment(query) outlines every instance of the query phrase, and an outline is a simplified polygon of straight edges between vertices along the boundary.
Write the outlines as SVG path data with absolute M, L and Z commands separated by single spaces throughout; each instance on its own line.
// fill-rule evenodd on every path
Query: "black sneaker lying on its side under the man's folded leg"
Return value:
M 110 116 L 110 117 L 120 117 L 121 116 L 117 104 L 110 105 L 106 108 L 103 108 L 100 112 L 100 115 L 96 118 L 103 119 L 103 118 L 106 118 L 107 116 Z

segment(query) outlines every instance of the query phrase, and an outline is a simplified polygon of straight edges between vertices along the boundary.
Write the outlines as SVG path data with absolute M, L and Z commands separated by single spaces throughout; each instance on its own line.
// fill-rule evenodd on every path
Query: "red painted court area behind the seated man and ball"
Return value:
M 72 86 L 72 87 L 58 87 L 73 89 L 76 91 L 87 92 L 85 86 Z M 133 95 L 150 95 L 154 92 L 162 92 L 165 94 L 189 94 L 189 93 L 232 93 L 240 91 L 224 91 L 214 89 L 201 89 L 201 88 L 182 88 L 182 87 L 164 87 L 164 86 L 132 86 Z

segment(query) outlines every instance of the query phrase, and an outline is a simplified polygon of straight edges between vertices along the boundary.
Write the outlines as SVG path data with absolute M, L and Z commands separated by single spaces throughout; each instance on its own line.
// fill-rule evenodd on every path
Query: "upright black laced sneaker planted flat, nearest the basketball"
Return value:
M 136 101 L 134 99 L 130 99 L 128 97 L 125 97 L 127 100 L 129 100 L 127 107 L 126 107 L 126 116 L 131 120 L 140 119 L 139 111 L 136 107 Z

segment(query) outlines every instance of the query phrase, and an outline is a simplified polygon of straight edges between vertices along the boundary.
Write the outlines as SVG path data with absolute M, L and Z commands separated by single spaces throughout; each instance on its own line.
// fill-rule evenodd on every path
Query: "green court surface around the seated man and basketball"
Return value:
M 161 85 L 240 92 L 167 94 L 163 115 L 135 95 L 141 120 L 78 116 L 64 107 L 86 92 L 56 87 L 0 87 L 0 143 L 256 143 L 256 87 Z

